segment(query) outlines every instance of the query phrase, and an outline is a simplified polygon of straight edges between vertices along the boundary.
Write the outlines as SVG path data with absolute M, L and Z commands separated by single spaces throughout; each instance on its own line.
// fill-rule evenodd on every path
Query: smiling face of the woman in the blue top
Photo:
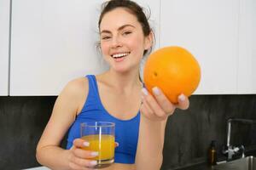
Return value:
M 103 16 L 100 38 L 103 57 L 114 71 L 138 69 L 143 51 L 151 47 L 151 35 L 144 37 L 136 16 L 125 8 Z

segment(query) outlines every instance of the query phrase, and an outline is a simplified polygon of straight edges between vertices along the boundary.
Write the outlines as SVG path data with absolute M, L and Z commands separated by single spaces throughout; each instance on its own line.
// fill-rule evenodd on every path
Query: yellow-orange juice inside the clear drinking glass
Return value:
M 99 155 L 94 157 L 94 160 L 113 161 L 114 156 L 114 136 L 109 134 L 94 134 L 83 136 L 82 139 L 90 143 L 89 146 L 84 147 L 84 150 L 98 151 Z

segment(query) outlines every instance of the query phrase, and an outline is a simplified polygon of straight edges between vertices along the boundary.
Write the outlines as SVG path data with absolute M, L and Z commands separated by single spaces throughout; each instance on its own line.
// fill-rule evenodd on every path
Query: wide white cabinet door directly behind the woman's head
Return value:
M 13 1 L 10 95 L 56 95 L 76 77 L 108 68 L 96 52 L 103 0 Z M 138 1 L 154 10 L 160 2 Z

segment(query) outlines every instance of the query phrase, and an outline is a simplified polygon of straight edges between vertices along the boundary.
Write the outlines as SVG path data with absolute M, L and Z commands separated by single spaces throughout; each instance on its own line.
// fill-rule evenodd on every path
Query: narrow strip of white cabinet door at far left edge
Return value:
M 8 95 L 9 0 L 0 1 L 0 95 Z

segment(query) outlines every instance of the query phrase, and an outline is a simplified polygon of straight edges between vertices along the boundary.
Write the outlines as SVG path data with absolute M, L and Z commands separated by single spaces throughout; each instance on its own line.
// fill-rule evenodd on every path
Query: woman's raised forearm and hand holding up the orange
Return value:
M 187 109 L 189 99 L 184 95 L 173 105 L 158 88 L 154 88 L 154 97 L 143 88 L 143 105 L 137 145 L 136 169 L 158 170 L 161 167 L 162 151 L 165 140 L 167 117 L 176 108 Z

